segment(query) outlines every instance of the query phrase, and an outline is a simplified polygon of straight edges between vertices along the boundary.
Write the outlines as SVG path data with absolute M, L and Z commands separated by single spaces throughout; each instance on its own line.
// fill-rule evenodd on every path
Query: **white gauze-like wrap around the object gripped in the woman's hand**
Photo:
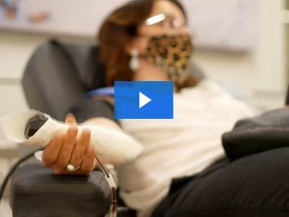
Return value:
M 25 137 L 27 121 L 37 114 L 46 116 L 47 121 L 27 139 Z M 1 118 L 1 123 L 8 140 L 37 147 L 47 146 L 56 130 L 66 132 L 69 127 L 68 124 L 32 109 L 4 116 Z M 123 130 L 108 128 L 100 124 L 78 125 L 78 136 L 84 129 L 91 131 L 90 142 L 96 155 L 103 161 L 120 165 L 133 161 L 142 151 L 140 143 Z

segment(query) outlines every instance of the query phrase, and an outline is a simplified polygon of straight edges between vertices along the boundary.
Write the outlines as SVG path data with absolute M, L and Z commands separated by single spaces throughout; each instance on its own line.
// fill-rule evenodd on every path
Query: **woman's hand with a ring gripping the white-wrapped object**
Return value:
M 65 134 L 61 132 L 54 134 L 43 151 L 42 161 L 56 174 L 88 174 L 96 165 L 94 149 L 90 144 L 90 130 L 82 130 L 80 137 L 77 138 L 78 127 L 73 114 L 66 116 L 66 123 L 71 126 Z M 70 172 L 66 168 L 68 164 L 80 168 Z

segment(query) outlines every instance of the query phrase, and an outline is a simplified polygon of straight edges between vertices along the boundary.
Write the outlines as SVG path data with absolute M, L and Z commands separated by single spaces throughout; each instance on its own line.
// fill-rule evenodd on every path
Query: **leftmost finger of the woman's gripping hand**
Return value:
M 44 149 L 42 154 L 42 161 L 44 165 L 50 166 L 54 164 L 59 156 L 61 145 L 63 144 L 64 136 L 61 132 L 56 132 L 51 138 L 48 146 Z

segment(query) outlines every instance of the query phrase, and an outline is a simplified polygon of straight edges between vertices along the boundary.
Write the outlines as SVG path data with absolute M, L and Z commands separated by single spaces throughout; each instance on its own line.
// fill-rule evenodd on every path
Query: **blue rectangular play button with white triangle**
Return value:
M 114 118 L 173 119 L 173 82 L 114 82 Z

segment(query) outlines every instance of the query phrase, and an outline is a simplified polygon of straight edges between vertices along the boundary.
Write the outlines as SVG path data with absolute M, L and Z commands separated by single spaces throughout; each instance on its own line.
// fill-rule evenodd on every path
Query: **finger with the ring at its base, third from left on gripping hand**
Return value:
M 81 136 L 74 146 L 73 153 L 71 155 L 69 163 L 75 167 L 79 166 L 82 163 L 83 158 L 85 156 L 85 151 L 89 146 L 90 146 L 90 130 L 82 130 Z

